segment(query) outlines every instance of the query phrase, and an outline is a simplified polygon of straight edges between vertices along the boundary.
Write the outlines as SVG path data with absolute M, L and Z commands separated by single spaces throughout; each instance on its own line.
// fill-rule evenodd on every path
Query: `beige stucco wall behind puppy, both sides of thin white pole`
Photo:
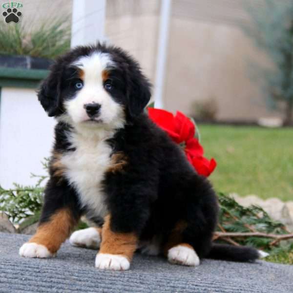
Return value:
M 125 5 L 128 3 L 128 6 Z M 261 1 L 253 2 L 261 9 Z M 154 82 L 158 1 L 108 1 L 106 36 L 134 55 Z M 194 114 L 194 101 L 213 99 L 218 120 L 280 117 L 265 105 L 261 77 L 250 62 L 268 63 L 239 28 L 249 16 L 241 0 L 172 2 L 164 106 Z

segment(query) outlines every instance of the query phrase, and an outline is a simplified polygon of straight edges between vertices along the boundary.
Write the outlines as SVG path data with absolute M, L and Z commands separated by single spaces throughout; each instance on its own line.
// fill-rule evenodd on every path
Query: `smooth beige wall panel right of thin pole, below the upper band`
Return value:
M 235 25 L 173 18 L 167 57 L 165 106 L 192 114 L 194 101 L 214 99 L 219 120 L 255 120 L 279 113 L 265 106 L 261 79 L 249 64 L 265 56 Z

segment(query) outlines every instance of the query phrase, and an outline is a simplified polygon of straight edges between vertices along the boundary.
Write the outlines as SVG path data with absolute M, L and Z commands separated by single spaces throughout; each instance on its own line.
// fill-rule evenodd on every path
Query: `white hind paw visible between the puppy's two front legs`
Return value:
M 73 246 L 97 249 L 100 247 L 101 236 L 96 228 L 91 227 L 73 232 L 69 242 Z

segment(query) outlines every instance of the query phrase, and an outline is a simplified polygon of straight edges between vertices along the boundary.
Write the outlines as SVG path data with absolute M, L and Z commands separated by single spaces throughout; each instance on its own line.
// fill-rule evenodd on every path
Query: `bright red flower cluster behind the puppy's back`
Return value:
M 172 113 L 148 108 L 149 118 L 167 132 L 171 139 L 184 146 L 184 151 L 189 163 L 195 168 L 198 174 L 209 176 L 217 166 L 214 159 L 210 161 L 204 157 L 204 149 L 195 135 L 195 126 L 192 121 L 181 112 Z

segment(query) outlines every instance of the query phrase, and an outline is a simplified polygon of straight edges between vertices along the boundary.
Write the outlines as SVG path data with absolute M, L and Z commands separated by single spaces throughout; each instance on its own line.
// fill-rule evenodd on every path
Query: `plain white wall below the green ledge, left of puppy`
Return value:
M 0 99 L 0 185 L 34 184 L 30 173 L 45 174 L 41 161 L 50 156 L 56 122 L 34 89 L 1 88 Z

